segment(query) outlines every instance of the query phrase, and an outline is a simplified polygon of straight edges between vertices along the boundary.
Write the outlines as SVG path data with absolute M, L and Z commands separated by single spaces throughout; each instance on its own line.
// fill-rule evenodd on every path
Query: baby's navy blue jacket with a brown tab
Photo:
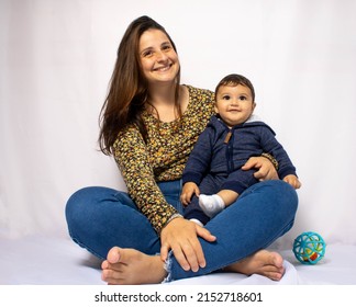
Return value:
M 182 182 L 200 184 L 208 174 L 229 177 L 241 169 L 251 157 L 270 154 L 278 161 L 278 175 L 283 179 L 296 174 L 296 168 L 283 147 L 277 141 L 275 132 L 260 121 L 247 121 L 229 128 L 218 116 L 212 116 L 191 151 Z

